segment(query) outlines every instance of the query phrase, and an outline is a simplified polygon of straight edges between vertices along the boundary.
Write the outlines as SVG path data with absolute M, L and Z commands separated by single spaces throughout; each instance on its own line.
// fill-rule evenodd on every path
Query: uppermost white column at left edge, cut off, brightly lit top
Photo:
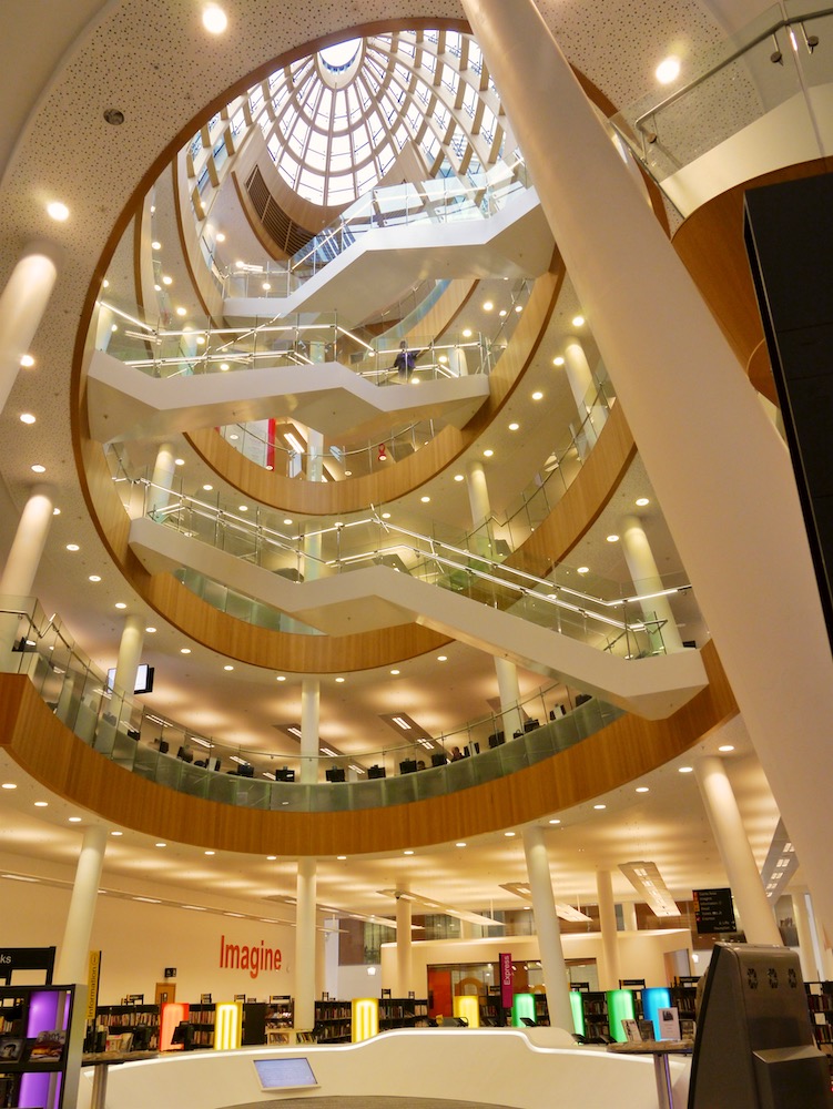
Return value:
M 47 311 L 60 257 L 51 243 L 30 243 L 0 294 L 0 411 Z

